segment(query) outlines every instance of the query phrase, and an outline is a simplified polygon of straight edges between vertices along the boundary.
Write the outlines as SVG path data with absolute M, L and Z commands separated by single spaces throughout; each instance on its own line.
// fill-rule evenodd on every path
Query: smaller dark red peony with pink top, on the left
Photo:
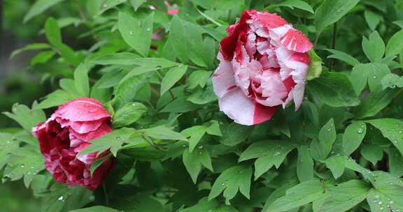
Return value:
M 60 106 L 48 121 L 32 131 L 39 140 L 45 167 L 57 181 L 95 190 L 113 168 L 113 158 L 108 158 L 91 176 L 90 167 L 97 153 L 80 157 L 77 154 L 90 140 L 111 132 L 110 125 L 111 115 L 101 103 L 92 98 L 78 98 Z

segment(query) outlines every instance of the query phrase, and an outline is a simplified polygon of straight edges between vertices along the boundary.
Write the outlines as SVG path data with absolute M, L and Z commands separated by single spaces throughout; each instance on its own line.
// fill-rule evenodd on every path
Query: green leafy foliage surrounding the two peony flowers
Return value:
M 162 204 L 166 211 L 183 212 L 205 209 L 260 211 L 263 206 L 264 210 L 272 207 L 273 211 L 311 211 L 310 202 L 314 202 L 314 211 L 403 210 L 400 181 L 403 175 L 403 137 L 400 134 L 403 129 L 403 82 L 400 78 L 403 1 L 183 0 L 171 2 L 180 10 L 176 17 L 167 15 L 167 6 L 158 0 L 52 1 L 54 3 L 43 11 L 32 13 L 34 2 L 3 0 L 1 111 L 10 111 L 14 103 L 30 107 L 35 100 L 41 102 L 52 91 L 66 90 L 59 90 L 47 102 L 36 106 L 49 115 L 52 106 L 83 96 L 80 93 L 83 90 L 71 88 L 71 84 L 67 87 L 59 84 L 60 79 L 77 82 L 85 78 L 73 75 L 78 64 L 83 62 L 91 68 L 92 97 L 102 100 L 109 109 L 113 107 L 117 112 L 128 102 L 143 103 L 148 107 L 146 114 L 139 112 L 141 106 L 137 108 L 130 117 L 137 118 L 135 123 L 119 122 L 119 117 L 115 116 L 116 129 L 164 125 L 174 127 L 182 137 L 171 131 L 160 139 L 151 136 L 153 142 L 157 142 L 157 148 L 168 150 L 162 158 L 155 155 L 155 149 L 147 149 L 150 152 L 141 156 L 130 148 L 120 149 L 122 144 L 108 137 L 118 145 L 122 165 L 106 183 L 108 201 L 102 189 L 92 195 L 85 190 L 69 190 L 59 185 L 50 188 L 48 183 L 54 182 L 43 171 L 29 189 L 24 188 L 23 182 L 29 181 L 28 172 L 20 173 L 13 181 L 6 178 L 4 184 L 0 184 L 0 204 L 6 211 L 38 211 L 40 208 L 43 211 L 69 211 L 87 203 L 87 206 L 109 204 L 125 211 L 150 211 L 151 206 L 158 211 L 162 210 L 159 207 Z M 306 100 L 299 112 L 292 112 L 292 106 L 288 107 L 278 112 L 272 121 L 255 128 L 234 125 L 218 112 L 208 81 L 218 65 L 214 58 L 217 42 L 225 35 L 225 27 L 236 22 L 241 11 L 248 8 L 275 11 L 285 17 L 316 43 L 315 52 L 323 61 L 322 67 L 320 59 L 315 60 L 312 78 L 318 77 L 315 74 L 320 74 L 322 69 L 323 73 L 308 82 Z M 153 20 L 151 24 L 147 22 L 150 19 Z M 44 31 L 45 26 L 48 28 Z M 62 31 L 62 41 L 57 36 L 58 27 Z M 131 28 L 134 30 L 129 30 Z M 150 41 L 149 28 L 154 32 L 161 29 L 162 40 Z M 22 52 L 9 60 L 13 50 L 29 43 L 49 43 L 52 47 L 31 46 L 37 50 Z M 177 63 L 136 59 L 147 56 Z M 127 62 L 127 57 L 137 62 Z M 186 73 L 185 66 L 179 63 L 188 66 Z M 178 68 L 171 71 L 172 66 Z M 136 72 L 133 70 L 145 74 L 123 84 L 123 77 Z M 150 72 L 153 70 L 155 72 Z M 192 77 L 196 71 L 198 74 Z M 143 76 L 146 77 L 141 78 Z M 140 81 L 147 83 L 142 87 L 132 86 Z M 78 87 L 85 87 L 83 84 L 85 82 L 80 80 Z M 104 87 L 99 89 L 99 84 Z M 131 94 L 134 89 L 139 89 L 136 96 Z M 112 98 L 112 91 L 123 97 Z M 84 96 L 86 94 L 84 91 Z M 180 101 L 167 107 L 171 95 Z M 143 114 L 141 119 L 137 116 L 139 113 Z M 20 135 L 20 126 L 15 121 L 3 115 L 0 117 L 1 132 Z M 38 117 L 41 119 L 41 112 Z M 220 130 L 216 128 L 218 123 Z M 126 135 L 125 130 L 116 133 Z M 190 144 L 173 142 L 183 137 L 187 137 Z M 0 139 L 2 144 L 8 140 Z M 20 142 L 18 151 L 29 150 L 26 139 L 12 139 Z M 279 142 L 267 145 L 259 142 L 263 139 Z M 134 143 L 127 141 L 125 144 Z M 195 150 L 190 153 L 181 148 L 183 145 Z M 87 151 L 110 146 L 93 147 Z M 1 150 L 0 154 L 9 154 Z M 207 158 L 198 157 L 199 153 Z M 132 165 L 133 161 L 124 156 L 139 162 Z M 148 162 L 150 157 L 163 162 Z M 254 161 L 254 158 L 259 159 Z M 231 167 L 233 169 L 224 172 Z M 6 172 L 7 168 L 2 169 L 3 179 Z M 250 188 L 241 188 L 241 193 L 238 188 L 227 187 L 222 196 L 220 192 L 231 179 L 239 180 L 231 181 L 229 184 L 232 185 L 248 185 L 250 179 L 252 184 Z M 116 185 L 118 181 L 120 184 Z M 303 184 L 288 190 L 299 183 Z M 250 200 L 246 198 L 248 189 Z M 288 190 L 287 195 L 278 199 L 285 195 L 285 190 Z M 292 195 L 293 192 L 296 194 Z M 122 194 L 124 197 L 120 197 Z M 70 199 L 76 205 L 67 205 L 59 200 L 60 197 L 73 198 L 71 196 L 87 197 L 90 201 Z M 217 202 L 199 202 L 208 196 L 216 197 Z M 225 202 L 233 197 L 235 199 L 230 201 L 233 206 L 225 206 Z M 139 205 L 136 199 L 142 199 L 144 204 Z

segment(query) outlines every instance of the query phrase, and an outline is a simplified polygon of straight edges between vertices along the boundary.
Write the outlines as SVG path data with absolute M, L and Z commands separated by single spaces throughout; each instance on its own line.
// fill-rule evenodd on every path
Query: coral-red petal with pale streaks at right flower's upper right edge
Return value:
M 295 52 L 308 52 L 313 48 L 311 41 L 306 38 L 304 33 L 296 29 L 290 29 L 287 33 L 285 33 L 285 35 L 281 38 L 281 44 L 288 50 Z

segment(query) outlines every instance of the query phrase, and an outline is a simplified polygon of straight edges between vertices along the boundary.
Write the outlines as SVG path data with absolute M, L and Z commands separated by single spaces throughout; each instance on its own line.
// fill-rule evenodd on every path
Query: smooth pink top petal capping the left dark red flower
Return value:
M 104 106 L 92 98 L 78 98 L 62 105 L 55 116 L 69 121 L 95 121 L 111 118 Z

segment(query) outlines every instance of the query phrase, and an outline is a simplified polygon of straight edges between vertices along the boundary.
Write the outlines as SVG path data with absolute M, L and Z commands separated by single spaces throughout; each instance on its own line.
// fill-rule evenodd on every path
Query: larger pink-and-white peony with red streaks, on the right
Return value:
M 220 66 L 213 88 L 220 110 L 236 123 L 254 125 L 271 119 L 278 105 L 291 100 L 297 110 L 304 98 L 313 45 L 282 17 L 244 11 L 220 42 Z

